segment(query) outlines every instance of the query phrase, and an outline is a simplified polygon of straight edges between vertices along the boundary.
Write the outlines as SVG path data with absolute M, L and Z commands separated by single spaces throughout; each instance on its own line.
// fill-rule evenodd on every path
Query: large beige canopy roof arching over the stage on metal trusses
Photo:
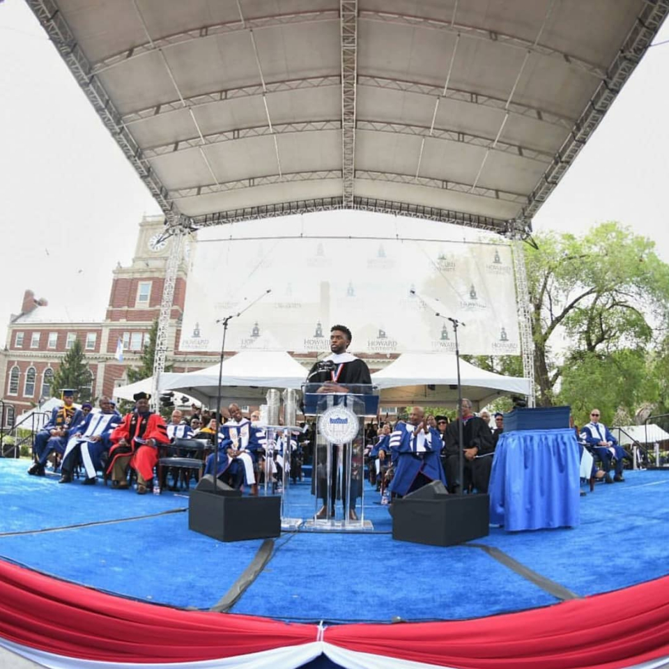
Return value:
M 171 223 L 356 208 L 501 233 L 529 226 L 668 11 L 26 1 Z

